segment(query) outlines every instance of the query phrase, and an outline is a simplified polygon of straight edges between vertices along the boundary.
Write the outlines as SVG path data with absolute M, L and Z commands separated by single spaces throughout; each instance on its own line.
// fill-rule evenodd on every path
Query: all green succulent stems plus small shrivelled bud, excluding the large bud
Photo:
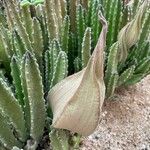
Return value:
M 101 31 L 100 11 L 108 21 L 106 97 L 150 74 L 150 4 L 142 3 L 5 0 L 0 6 L 0 149 L 37 148 L 49 129 L 46 115 L 52 116 L 46 93 L 86 67 Z M 68 131 L 50 132 L 54 149 L 68 149 L 66 141 L 74 139 Z

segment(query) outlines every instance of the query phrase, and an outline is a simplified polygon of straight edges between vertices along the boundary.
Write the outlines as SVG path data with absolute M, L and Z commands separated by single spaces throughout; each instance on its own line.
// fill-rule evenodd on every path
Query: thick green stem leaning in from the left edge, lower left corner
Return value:
M 9 121 L 7 122 L 8 125 L 13 125 L 13 128 L 20 140 L 26 140 L 26 128 L 25 128 L 25 120 L 23 111 L 14 97 L 11 88 L 0 79 L 0 110 L 1 114 L 5 117 L 8 117 Z M 12 113 L 13 112 L 13 113 Z M 2 137 L 3 138 L 3 137 Z M 7 145 L 7 143 L 6 143 Z

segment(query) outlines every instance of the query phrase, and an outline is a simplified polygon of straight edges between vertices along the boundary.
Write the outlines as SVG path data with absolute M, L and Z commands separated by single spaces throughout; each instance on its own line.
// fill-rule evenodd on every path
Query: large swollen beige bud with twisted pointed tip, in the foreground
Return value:
M 102 31 L 87 66 L 56 84 L 48 94 L 54 128 L 88 136 L 98 126 L 105 98 L 103 66 L 107 22 L 102 14 L 100 22 Z

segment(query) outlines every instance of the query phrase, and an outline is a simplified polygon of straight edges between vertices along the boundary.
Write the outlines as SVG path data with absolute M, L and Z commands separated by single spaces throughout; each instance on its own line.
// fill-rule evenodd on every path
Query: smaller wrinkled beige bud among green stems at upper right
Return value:
M 145 0 L 138 10 L 135 18 L 129 22 L 126 26 L 124 26 L 119 35 L 119 51 L 120 51 L 120 61 L 125 60 L 127 57 L 128 50 L 136 44 L 139 39 L 140 31 L 142 28 L 142 18 L 144 16 L 144 12 L 146 7 L 148 6 L 149 1 Z

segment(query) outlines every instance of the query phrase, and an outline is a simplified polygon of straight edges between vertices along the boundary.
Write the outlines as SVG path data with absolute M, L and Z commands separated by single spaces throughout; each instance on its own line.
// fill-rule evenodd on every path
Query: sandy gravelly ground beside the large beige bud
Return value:
M 105 101 L 97 131 L 81 150 L 150 150 L 150 76 Z

